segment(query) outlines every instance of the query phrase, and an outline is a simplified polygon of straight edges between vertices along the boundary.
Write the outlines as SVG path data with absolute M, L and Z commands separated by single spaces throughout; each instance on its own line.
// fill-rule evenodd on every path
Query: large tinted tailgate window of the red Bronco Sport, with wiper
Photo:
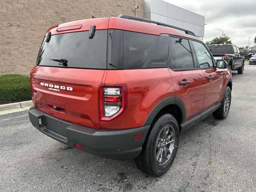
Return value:
M 66 59 L 67 67 L 106 69 L 108 30 L 96 30 L 92 39 L 88 31 L 52 35 L 44 38 L 37 65 L 62 67 L 53 58 Z

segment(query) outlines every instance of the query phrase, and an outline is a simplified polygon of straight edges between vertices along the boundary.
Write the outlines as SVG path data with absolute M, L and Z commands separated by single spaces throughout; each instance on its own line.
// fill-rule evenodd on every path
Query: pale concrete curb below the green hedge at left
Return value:
M 33 106 L 32 100 L 3 104 L 0 105 L 0 115 L 28 110 L 31 106 Z

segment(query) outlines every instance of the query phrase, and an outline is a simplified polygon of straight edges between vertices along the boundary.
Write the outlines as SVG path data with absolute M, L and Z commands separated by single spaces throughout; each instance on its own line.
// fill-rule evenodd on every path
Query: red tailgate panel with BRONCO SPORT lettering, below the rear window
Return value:
M 98 86 L 105 70 L 36 66 L 31 91 L 39 110 L 76 124 L 100 128 Z

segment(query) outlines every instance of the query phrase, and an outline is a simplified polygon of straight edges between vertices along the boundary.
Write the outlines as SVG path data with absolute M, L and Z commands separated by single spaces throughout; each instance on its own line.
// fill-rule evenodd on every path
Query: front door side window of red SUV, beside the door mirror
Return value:
M 199 68 L 213 67 L 212 56 L 206 47 L 200 42 L 192 41 L 192 43 L 196 51 L 195 54 L 198 58 Z

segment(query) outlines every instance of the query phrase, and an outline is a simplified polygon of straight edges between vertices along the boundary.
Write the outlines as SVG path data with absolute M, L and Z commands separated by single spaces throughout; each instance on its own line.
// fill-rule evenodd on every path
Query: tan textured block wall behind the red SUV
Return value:
M 143 2 L 136 0 L 143 17 Z M 0 0 L 0 75 L 28 75 L 46 30 L 56 24 L 128 14 L 135 0 Z

